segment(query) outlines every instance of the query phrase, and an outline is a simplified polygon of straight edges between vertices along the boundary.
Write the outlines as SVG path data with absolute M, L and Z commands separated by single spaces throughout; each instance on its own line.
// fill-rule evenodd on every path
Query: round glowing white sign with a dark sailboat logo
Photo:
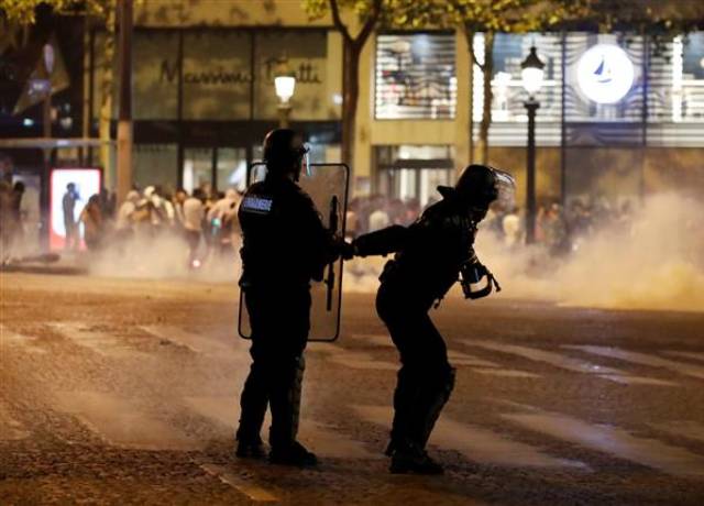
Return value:
M 576 64 L 576 80 L 590 100 L 616 103 L 634 84 L 634 64 L 624 50 L 612 44 L 588 48 Z

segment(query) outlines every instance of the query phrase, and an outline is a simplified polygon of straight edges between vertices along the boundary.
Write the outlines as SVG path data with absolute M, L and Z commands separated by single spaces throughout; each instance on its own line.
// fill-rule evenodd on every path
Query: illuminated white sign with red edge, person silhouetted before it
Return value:
M 50 248 L 80 246 L 80 211 L 88 199 L 100 194 L 102 173 L 99 168 L 54 168 L 51 179 Z M 69 188 L 70 185 L 70 188 Z M 68 235 L 72 244 L 66 244 Z

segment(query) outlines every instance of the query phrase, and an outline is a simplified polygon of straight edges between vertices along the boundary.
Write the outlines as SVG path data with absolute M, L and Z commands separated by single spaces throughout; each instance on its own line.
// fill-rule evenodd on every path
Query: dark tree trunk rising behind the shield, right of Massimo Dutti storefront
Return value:
M 360 96 L 360 55 L 362 48 L 354 43 L 344 44 L 342 84 L 342 162 L 353 169 L 356 102 Z

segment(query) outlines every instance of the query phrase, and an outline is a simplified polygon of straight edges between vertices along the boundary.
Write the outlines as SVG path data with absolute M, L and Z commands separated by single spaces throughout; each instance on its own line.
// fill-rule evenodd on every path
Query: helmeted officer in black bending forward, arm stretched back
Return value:
M 470 165 L 454 188 L 438 187 L 443 199 L 410 227 L 393 226 L 353 242 L 356 255 L 397 252 L 384 267 L 376 297 L 376 310 L 402 362 L 386 450 L 392 457 L 392 473 L 442 473 L 442 466 L 428 457 L 426 443 L 454 387 L 454 369 L 428 311 L 460 273 L 469 298 L 488 295 L 492 285 L 501 289 L 476 258 L 473 243 L 477 223 L 503 185 L 513 186 L 508 174 Z M 477 292 L 473 285 L 483 277 L 488 288 Z

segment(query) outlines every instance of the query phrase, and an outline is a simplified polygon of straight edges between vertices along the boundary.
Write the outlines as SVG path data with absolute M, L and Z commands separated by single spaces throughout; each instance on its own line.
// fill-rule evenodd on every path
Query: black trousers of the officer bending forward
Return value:
M 428 311 L 432 298 L 417 287 L 383 282 L 376 310 L 400 354 L 394 392 L 392 446 L 424 449 L 454 385 L 448 350 Z

